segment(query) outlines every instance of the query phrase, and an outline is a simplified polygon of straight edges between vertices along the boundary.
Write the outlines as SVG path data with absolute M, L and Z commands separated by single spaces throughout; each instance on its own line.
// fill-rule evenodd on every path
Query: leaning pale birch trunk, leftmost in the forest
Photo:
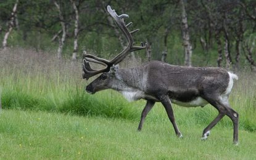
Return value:
M 16 12 L 17 12 L 18 3 L 19 3 L 19 0 L 16 0 L 16 2 L 14 4 L 14 8 L 12 9 L 11 17 L 10 17 L 9 28 L 8 28 L 6 34 L 4 34 L 4 39 L 2 41 L 2 49 L 4 49 L 4 50 L 6 50 L 7 39 L 9 38 L 10 32 L 12 31 L 12 28 L 14 27 L 15 15 L 16 15 Z

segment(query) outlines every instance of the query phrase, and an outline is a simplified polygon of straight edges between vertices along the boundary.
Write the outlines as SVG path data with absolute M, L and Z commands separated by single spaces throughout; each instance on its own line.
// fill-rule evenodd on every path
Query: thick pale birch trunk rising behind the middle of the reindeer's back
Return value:
M 191 57 L 192 57 L 192 46 L 189 42 L 189 30 L 188 30 L 188 18 L 186 14 L 186 9 L 184 6 L 183 0 L 180 0 L 181 10 L 182 10 L 182 23 L 181 30 L 183 33 L 183 46 L 185 50 L 185 65 L 192 66 Z

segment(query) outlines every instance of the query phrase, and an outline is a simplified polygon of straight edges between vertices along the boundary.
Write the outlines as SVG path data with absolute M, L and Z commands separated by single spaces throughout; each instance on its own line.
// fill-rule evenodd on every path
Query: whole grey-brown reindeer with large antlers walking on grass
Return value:
M 155 102 L 161 102 L 178 137 L 182 137 L 182 134 L 176 125 L 171 103 L 186 107 L 205 106 L 210 103 L 218 110 L 218 116 L 205 127 L 202 139 L 206 140 L 210 129 L 227 115 L 233 121 L 233 142 L 237 144 L 239 114 L 231 108 L 228 102 L 233 81 L 238 79 L 236 74 L 222 68 L 175 66 L 159 61 L 151 61 L 135 68 L 119 69 L 118 63 L 122 62 L 130 52 L 145 49 L 146 44 L 141 42 L 141 46 L 134 46 L 132 34 L 139 29 L 128 30 L 131 22 L 125 25 L 123 20 L 128 18 L 128 15 L 117 15 L 110 6 L 107 6 L 107 11 L 125 35 L 128 46 L 110 61 L 90 54 L 83 55 L 84 79 L 88 80 L 102 73 L 86 86 L 86 91 L 94 94 L 100 90 L 114 89 L 122 93 L 129 101 L 146 100 L 138 130 L 142 129 L 144 119 Z M 94 70 L 89 62 L 104 65 L 105 68 Z

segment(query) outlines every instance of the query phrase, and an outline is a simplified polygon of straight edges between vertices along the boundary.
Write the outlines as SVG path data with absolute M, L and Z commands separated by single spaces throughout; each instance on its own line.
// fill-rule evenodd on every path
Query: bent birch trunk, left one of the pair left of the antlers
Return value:
M 57 50 L 57 58 L 60 60 L 62 58 L 62 50 L 63 50 L 63 46 L 64 46 L 64 42 L 65 42 L 65 38 L 66 38 L 66 26 L 65 26 L 65 22 L 64 22 L 64 17 L 62 15 L 62 11 L 60 10 L 60 6 L 59 4 L 54 1 L 55 6 L 57 7 L 57 10 L 59 12 L 59 18 L 60 18 L 60 24 L 62 26 L 62 37 L 59 38 L 59 48 Z

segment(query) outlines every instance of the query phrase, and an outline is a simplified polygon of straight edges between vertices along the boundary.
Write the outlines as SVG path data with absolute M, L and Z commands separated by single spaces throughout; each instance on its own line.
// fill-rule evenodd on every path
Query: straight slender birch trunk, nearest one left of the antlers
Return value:
M 72 2 L 73 9 L 75 10 L 75 31 L 74 31 L 74 50 L 72 54 L 72 60 L 75 61 L 77 57 L 78 52 L 78 22 L 79 22 L 79 13 L 78 8 L 76 7 L 75 1 L 70 0 Z

